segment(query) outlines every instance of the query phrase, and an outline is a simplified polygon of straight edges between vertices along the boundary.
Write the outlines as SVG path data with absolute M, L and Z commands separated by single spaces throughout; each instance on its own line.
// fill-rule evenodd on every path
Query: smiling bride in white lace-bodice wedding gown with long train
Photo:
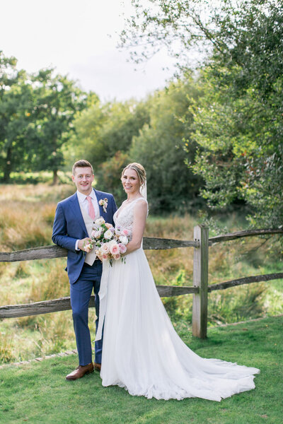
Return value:
M 141 242 L 147 201 L 141 195 L 146 172 L 130 163 L 122 172 L 127 193 L 114 215 L 115 225 L 132 231 L 125 261 L 103 263 L 100 329 L 103 386 L 118 385 L 129 394 L 156 399 L 199 397 L 221 401 L 254 389 L 260 370 L 218 359 L 200 358 L 175 332 L 158 295 Z

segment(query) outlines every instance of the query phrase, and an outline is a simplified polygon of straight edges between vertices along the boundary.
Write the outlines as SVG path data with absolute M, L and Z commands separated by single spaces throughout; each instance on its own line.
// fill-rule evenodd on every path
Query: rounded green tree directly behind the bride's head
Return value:
M 198 95 L 192 78 L 171 83 L 165 90 L 158 91 L 151 100 L 149 124 L 133 139 L 129 158 L 146 169 L 153 212 L 183 212 L 200 206 L 198 193 L 202 178 L 185 165 L 185 160 L 194 162 L 192 114 L 188 108 L 197 101 Z

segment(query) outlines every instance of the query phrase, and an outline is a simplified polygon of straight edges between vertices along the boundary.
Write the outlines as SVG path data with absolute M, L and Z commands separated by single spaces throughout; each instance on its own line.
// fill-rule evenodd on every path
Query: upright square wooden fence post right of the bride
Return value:
M 194 248 L 192 282 L 199 293 L 192 298 L 192 335 L 199 338 L 207 337 L 208 232 L 204 225 L 194 228 L 194 240 L 200 242 L 200 247 Z

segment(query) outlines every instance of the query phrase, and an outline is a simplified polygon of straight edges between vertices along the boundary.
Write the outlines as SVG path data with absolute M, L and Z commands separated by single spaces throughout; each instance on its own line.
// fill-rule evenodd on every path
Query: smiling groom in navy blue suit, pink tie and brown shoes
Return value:
M 57 205 L 52 233 L 53 242 L 68 250 L 71 310 L 79 353 L 79 367 L 67 375 L 67 380 L 75 380 L 93 372 L 88 303 L 94 290 L 96 317 L 99 317 L 98 291 L 102 263 L 93 251 L 84 252 L 84 247 L 90 241 L 93 221 L 102 216 L 106 222 L 113 224 L 113 215 L 117 210 L 112 194 L 98 192 L 91 186 L 94 179 L 93 167 L 87 160 L 78 160 L 74 164 L 71 178 L 77 191 Z M 100 370 L 102 340 L 96 341 L 95 350 L 94 368 Z

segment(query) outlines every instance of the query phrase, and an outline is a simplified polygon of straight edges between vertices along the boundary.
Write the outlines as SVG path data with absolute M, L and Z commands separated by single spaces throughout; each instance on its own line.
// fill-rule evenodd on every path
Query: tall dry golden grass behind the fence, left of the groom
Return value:
M 0 185 L 2 252 L 51 245 L 57 201 L 74 186 Z M 66 259 L 0 263 L 0 304 L 37 302 L 69 295 Z M 0 322 L 0 362 L 26 360 L 74 348 L 71 312 Z

